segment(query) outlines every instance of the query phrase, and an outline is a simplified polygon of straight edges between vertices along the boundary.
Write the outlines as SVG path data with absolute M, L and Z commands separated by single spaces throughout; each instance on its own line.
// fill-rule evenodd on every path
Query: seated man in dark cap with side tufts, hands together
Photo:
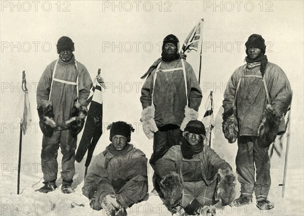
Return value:
M 110 145 L 96 156 L 82 188 L 95 210 L 108 215 L 126 215 L 126 207 L 141 201 L 148 192 L 147 159 L 130 144 L 134 128 L 126 122 L 113 122 Z

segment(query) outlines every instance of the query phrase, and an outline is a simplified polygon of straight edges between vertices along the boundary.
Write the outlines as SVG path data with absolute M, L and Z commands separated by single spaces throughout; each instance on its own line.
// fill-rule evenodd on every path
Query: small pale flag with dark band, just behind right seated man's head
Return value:
M 204 140 L 204 144 L 209 145 L 209 147 L 211 147 L 211 131 L 215 126 L 213 118 L 213 105 L 213 91 L 210 91 L 207 102 L 205 104 L 206 113 L 202 119 L 202 122 L 205 125 L 206 129 L 206 139 Z

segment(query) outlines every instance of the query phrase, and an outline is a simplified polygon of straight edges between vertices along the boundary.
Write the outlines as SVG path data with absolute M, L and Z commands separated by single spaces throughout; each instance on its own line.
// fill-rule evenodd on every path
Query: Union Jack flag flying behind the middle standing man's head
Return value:
M 203 22 L 201 19 L 199 23 L 191 30 L 182 45 L 181 52 L 191 52 L 192 50 L 198 51 L 199 47 L 202 45 L 202 35 L 203 35 Z

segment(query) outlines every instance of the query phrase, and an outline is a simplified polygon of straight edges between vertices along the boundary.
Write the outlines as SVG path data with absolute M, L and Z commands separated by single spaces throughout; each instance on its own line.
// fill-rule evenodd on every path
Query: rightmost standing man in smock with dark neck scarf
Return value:
M 247 64 L 237 68 L 229 80 L 223 100 L 223 132 L 230 143 L 238 139 L 237 173 L 241 196 L 236 206 L 252 203 L 255 193 L 259 209 L 272 209 L 268 149 L 282 133 L 281 121 L 292 92 L 284 71 L 268 62 L 264 39 L 252 34 L 245 43 Z M 282 119 L 284 120 L 284 118 Z M 255 176 L 256 173 L 256 176 Z

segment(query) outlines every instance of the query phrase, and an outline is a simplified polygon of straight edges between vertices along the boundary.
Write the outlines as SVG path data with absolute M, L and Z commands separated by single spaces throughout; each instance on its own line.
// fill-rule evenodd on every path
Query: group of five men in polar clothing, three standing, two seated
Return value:
M 236 173 L 209 146 L 203 144 L 204 124 L 195 120 L 202 91 L 192 66 L 178 53 L 179 41 L 168 35 L 162 57 L 150 66 L 142 89 L 141 121 L 144 133 L 153 137 L 153 193 L 172 214 L 214 215 L 224 205 L 252 203 L 272 209 L 268 149 L 276 135 L 284 133 L 283 115 L 292 92 L 284 71 L 268 62 L 261 35 L 252 34 L 245 44 L 245 65 L 232 74 L 224 92 L 222 129 L 230 143 L 237 140 Z M 57 155 L 62 153 L 62 193 L 73 193 L 77 134 L 87 116 L 92 80 L 87 68 L 75 60 L 74 43 L 68 37 L 57 42 L 58 59 L 45 69 L 37 86 L 37 111 L 43 132 L 41 163 L 44 186 L 54 191 Z M 147 159 L 131 143 L 131 124 L 113 122 L 110 144 L 89 166 L 82 188 L 91 208 L 107 215 L 126 215 L 126 208 L 148 194 Z M 241 196 L 235 199 L 236 182 Z

